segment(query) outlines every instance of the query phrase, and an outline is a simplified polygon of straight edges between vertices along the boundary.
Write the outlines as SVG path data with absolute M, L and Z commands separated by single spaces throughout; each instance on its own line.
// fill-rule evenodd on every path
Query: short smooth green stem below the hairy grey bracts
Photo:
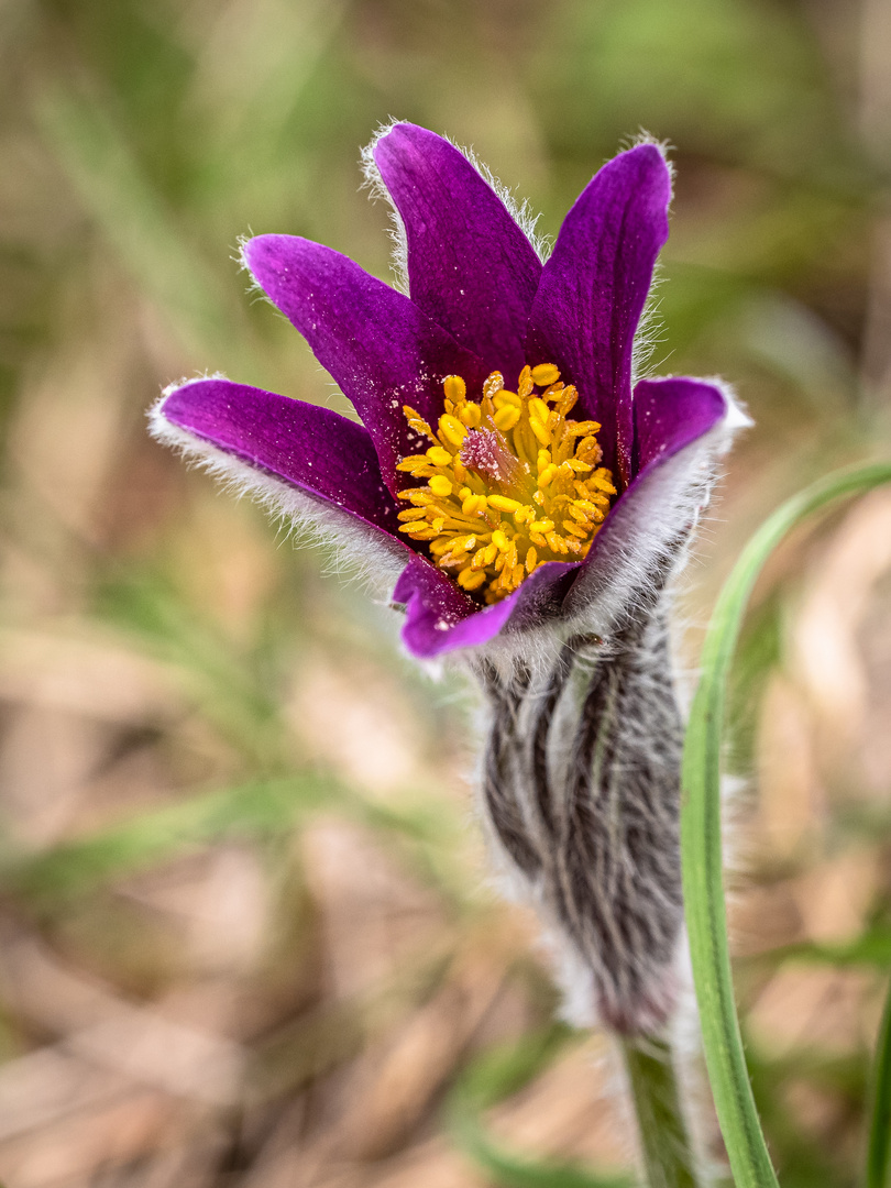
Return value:
M 671 1045 L 650 1036 L 623 1041 L 649 1188 L 697 1188 Z

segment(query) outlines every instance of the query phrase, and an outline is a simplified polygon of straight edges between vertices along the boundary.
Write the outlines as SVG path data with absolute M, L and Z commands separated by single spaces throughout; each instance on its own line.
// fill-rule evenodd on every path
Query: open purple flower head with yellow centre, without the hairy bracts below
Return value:
M 346 543 L 405 606 L 417 656 L 607 633 L 680 549 L 744 421 L 715 383 L 634 381 L 668 236 L 659 147 L 605 165 L 544 261 L 447 140 L 396 124 L 367 163 L 409 296 L 305 239 L 244 248 L 362 425 L 211 378 L 169 390 L 154 434 Z

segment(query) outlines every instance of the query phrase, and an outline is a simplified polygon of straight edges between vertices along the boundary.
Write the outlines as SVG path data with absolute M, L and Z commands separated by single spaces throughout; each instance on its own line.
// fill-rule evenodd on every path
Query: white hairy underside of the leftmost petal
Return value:
M 398 542 L 388 545 L 384 533 L 362 527 L 355 516 L 336 504 L 314 498 L 172 424 L 164 416 L 164 403 L 181 386 L 182 383 L 166 387 L 148 410 L 152 437 L 172 447 L 192 466 L 201 467 L 220 481 L 227 493 L 239 499 L 249 495 L 296 543 L 330 548 L 331 568 L 339 577 L 360 581 L 374 596 L 388 599 L 409 560 L 407 550 Z

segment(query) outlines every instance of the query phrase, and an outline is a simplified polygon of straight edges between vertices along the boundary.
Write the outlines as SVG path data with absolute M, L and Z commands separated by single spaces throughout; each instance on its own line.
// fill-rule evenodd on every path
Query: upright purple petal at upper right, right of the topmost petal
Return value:
M 631 481 L 631 352 L 659 248 L 671 176 L 655 145 L 605 165 L 582 190 L 544 266 L 530 315 L 529 361 L 555 362 L 601 422 L 604 463 Z

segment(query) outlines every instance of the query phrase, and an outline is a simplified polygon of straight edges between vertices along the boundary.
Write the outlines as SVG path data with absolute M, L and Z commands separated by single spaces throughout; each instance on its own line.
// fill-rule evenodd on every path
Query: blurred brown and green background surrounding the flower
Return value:
M 693 670 L 753 526 L 887 456 L 891 5 L 0 0 L 0 1180 L 517 1183 L 468 1078 L 514 1157 L 630 1168 L 607 1045 L 549 1031 L 486 873 L 467 690 L 145 410 L 203 371 L 339 400 L 233 255 L 287 232 L 385 276 L 380 121 L 473 145 L 551 236 L 645 127 L 678 173 L 657 369 L 720 372 L 757 422 L 689 570 Z M 890 608 L 885 492 L 782 551 L 738 664 L 738 986 L 784 1188 L 857 1181 Z

